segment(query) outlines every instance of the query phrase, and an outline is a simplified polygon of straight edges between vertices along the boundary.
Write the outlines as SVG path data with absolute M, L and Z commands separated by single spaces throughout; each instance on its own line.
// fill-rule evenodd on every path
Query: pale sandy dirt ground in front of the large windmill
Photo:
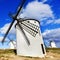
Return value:
M 44 58 L 38 57 L 23 57 L 17 56 L 13 53 L 0 54 L 0 60 L 60 60 L 60 53 L 53 53 L 48 51 Z

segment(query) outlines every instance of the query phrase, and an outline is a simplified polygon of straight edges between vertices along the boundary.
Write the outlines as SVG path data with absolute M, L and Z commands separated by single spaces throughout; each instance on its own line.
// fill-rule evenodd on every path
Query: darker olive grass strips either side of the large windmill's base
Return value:
M 59 53 L 60 54 L 60 48 L 46 48 L 46 52 L 52 52 L 52 53 Z M 0 55 L 1 54 L 16 54 L 15 49 L 0 49 Z

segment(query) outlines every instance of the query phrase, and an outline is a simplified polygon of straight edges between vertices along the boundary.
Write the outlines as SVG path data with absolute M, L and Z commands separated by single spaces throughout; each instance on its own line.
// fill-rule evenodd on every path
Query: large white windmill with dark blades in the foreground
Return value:
M 2 43 L 4 43 L 5 38 L 7 37 L 12 25 L 15 21 L 16 23 L 16 38 L 17 38 L 17 55 L 22 56 L 31 56 L 31 57 L 44 57 L 46 55 L 45 46 L 43 43 L 40 23 L 36 19 L 24 19 L 17 18 L 21 9 L 25 3 L 25 0 L 22 1 L 21 6 L 19 7 L 17 13 L 12 16 L 12 23 L 6 32 Z

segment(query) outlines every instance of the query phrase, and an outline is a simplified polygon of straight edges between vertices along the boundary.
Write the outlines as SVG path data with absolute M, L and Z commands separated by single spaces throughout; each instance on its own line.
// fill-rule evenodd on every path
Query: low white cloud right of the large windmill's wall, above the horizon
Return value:
M 51 30 L 47 29 L 42 33 L 42 35 L 46 39 L 60 40 L 60 28 L 51 29 Z

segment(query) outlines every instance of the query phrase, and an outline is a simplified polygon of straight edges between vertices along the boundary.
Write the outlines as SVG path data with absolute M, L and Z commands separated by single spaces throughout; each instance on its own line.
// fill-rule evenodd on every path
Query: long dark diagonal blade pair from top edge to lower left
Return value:
M 7 37 L 8 33 L 9 33 L 9 31 L 10 31 L 12 25 L 13 25 L 13 23 L 15 22 L 15 19 L 17 19 L 17 16 L 18 16 L 19 12 L 21 11 L 21 9 L 22 9 L 25 1 L 26 1 L 26 0 L 23 0 L 23 2 L 22 2 L 22 4 L 21 4 L 21 6 L 19 7 L 16 15 L 13 17 L 13 21 L 12 21 L 12 23 L 10 24 L 10 27 L 8 28 L 8 30 L 7 30 L 7 32 L 6 32 L 6 34 L 5 34 L 5 36 L 4 36 L 3 40 L 2 40 L 2 43 L 4 42 L 5 38 Z

